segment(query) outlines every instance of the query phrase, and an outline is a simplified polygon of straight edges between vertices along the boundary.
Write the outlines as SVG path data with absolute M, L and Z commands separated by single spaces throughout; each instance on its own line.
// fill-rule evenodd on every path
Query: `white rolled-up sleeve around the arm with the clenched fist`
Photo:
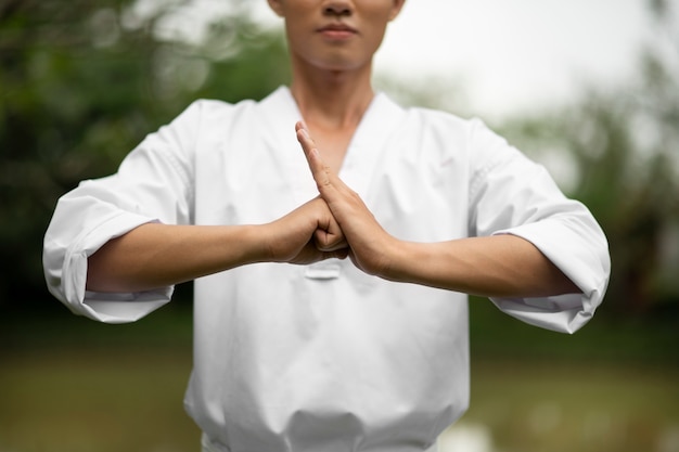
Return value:
M 148 135 L 118 172 L 84 181 L 59 199 L 44 235 L 43 271 L 50 293 L 74 313 L 106 323 L 133 322 L 170 300 L 172 286 L 129 294 L 87 292 L 88 257 L 141 224 L 190 222 L 200 111 L 201 103 L 194 103 Z

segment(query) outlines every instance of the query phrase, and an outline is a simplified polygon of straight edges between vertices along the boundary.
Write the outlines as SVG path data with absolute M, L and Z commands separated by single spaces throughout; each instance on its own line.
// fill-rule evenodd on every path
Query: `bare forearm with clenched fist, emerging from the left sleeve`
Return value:
M 342 231 L 321 198 L 260 225 L 145 223 L 88 258 L 87 288 L 142 292 L 247 263 L 310 263 L 347 255 Z

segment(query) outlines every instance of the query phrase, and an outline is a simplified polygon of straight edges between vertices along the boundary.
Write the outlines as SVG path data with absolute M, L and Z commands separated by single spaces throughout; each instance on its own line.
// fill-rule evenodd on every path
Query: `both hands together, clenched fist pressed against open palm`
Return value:
M 323 163 L 304 122 L 297 122 L 295 130 L 319 196 L 269 223 L 272 260 L 307 264 L 348 256 L 366 273 L 384 274 L 397 249 L 396 240 Z

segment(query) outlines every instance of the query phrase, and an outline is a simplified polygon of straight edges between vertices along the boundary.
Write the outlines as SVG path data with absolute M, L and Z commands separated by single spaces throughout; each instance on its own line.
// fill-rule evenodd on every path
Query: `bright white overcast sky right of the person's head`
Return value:
M 264 0 L 258 15 L 276 21 Z M 645 0 L 408 0 L 375 70 L 450 80 L 473 114 L 563 102 L 584 83 L 629 79 L 652 34 Z M 672 3 L 672 2 L 670 2 Z

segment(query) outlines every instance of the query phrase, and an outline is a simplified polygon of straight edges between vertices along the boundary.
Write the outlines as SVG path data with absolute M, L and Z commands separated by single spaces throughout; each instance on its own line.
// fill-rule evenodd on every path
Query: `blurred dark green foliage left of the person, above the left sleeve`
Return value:
M 192 100 L 260 99 L 287 81 L 283 39 L 243 2 L 210 17 L 190 5 L 0 3 L 0 307 L 46 298 L 41 243 L 60 195 L 113 172 Z

